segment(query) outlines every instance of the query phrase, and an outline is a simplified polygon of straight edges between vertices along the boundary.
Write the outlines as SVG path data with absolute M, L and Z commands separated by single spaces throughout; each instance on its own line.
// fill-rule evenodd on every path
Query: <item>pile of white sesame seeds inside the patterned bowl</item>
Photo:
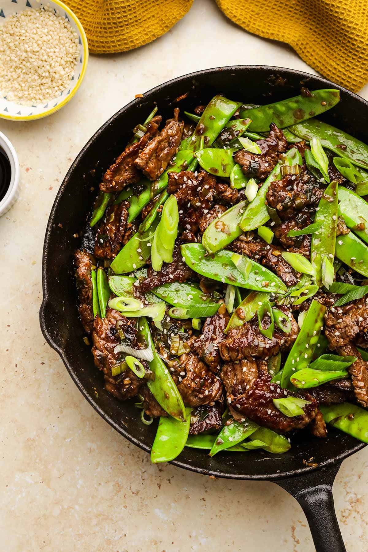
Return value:
M 23 105 L 55 98 L 78 58 L 78 35 L 67 19 L 45 9 L 10 15 L 0 26 L 0 93 Z

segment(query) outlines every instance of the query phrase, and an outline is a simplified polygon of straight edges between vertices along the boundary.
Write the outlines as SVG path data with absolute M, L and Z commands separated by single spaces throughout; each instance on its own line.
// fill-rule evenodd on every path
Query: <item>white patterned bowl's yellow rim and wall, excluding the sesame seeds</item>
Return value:
M 76 30 L 79 45 L 80 45 L 80 56 L 79 61 L 74 70 L 74 74 L 70 81 L 69 86 L 62 91 L 57 98 L 53 98 L 48 102 L 43 102 L 38 105 L 25 106 L 20 103 L 9 102 L 6 97 L 0 97 L 0 117 L 3 119 L 10 119 L 12 121 L 31 121 L 34 119 L 40 119 L 41 117 L 46 117 L 55 113 L 58 109 L 62 108 L 73 95 L 77 92 L 79 86 L 81 86 L 83 77 L 86 73 L 87 63 L 88 63 L 88 43 L 86 33 L 79 22 L 79 19 L 68 8 L 59 0 L 47 0 L 45 2 L 40 2 L 36 0 L 3 0 L 0 3 L 0 25 L 2 25 L 7 17 L 14 13 L 23 12 L 26 9 L 39 9 L 40 7 L 45 6 L 47 9 L 54 9 L 55 13 L 58 10 L 58 14 L 61 17 L 65 17 L 71 24 L 72 28 Z

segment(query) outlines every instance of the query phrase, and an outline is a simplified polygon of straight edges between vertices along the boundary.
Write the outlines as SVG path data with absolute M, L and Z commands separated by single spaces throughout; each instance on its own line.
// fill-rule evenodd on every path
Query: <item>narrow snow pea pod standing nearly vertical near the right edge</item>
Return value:
M 319 287 L 322 285 L 323 258 L 327 256 L 333 261 L 335 254 L 338 217 L 337 194 L 337 181 L 334 180 L 324 190 L 324 194 L 318 203 L 318 211 L 314 217 L 314 223 L 323 221 L 321 228 L 312 234 L 311 243 L 311 263 L 316 269 L 314 281 Z

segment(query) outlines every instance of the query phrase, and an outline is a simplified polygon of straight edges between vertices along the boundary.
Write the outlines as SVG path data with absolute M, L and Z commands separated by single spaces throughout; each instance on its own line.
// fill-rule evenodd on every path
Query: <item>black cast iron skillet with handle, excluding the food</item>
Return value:
M 270 103 L 300 93 L 301 86 L 311 90 L 339 88 L 340 103 L 323 119 L 368 142 L 368 103 L 325 79 L 279 67 L 209 69 L 161 84 L 111 117 L 79 153 L 57 194 L 47 224 L 42 261 L 42 333 L 60 354 L 79 390 L 99 415 L 147 452 L 151 449 L 156 424 L 143 425 L 133 401 L 119 402 L 104 390 L 90 347 L 83 342 L 72 259 L 81 241 L 73 234 L 83 229 L 103 172 L 122 151 L 134 126 L 145 120 L 154 104 L 157 103 L 160 114 L 170 117 L 175 105 L 191 111 L 195 105 L 206 104 L 220 92 L 243 103 Z M 175 99 L 184 93 L 188 93 L 188 97 L 176 103 Z M 342 460 L 365 445 L 333 429 L 329 429 L 327 439 L 312 438 L 307 432 L 300 434 L 298 439 L 290 452 L 282 455 L 228 453 L 211 459 L 205 451 L 185 448 L 172 463 L 216 477 L 275 481 L 302 506 L 317 551 L 343 552 L 345 547 L 334 513 L 332 484 Z

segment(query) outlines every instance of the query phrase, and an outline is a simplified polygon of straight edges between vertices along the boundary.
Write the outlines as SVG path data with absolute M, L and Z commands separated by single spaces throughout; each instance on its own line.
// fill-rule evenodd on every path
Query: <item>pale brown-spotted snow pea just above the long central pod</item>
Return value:
M 247 200 L 233 205 L 207 226 L 202 236 L 202 245 L 209 253 L 220 251 L 243 233 L 238 225 L 247 205 Z

